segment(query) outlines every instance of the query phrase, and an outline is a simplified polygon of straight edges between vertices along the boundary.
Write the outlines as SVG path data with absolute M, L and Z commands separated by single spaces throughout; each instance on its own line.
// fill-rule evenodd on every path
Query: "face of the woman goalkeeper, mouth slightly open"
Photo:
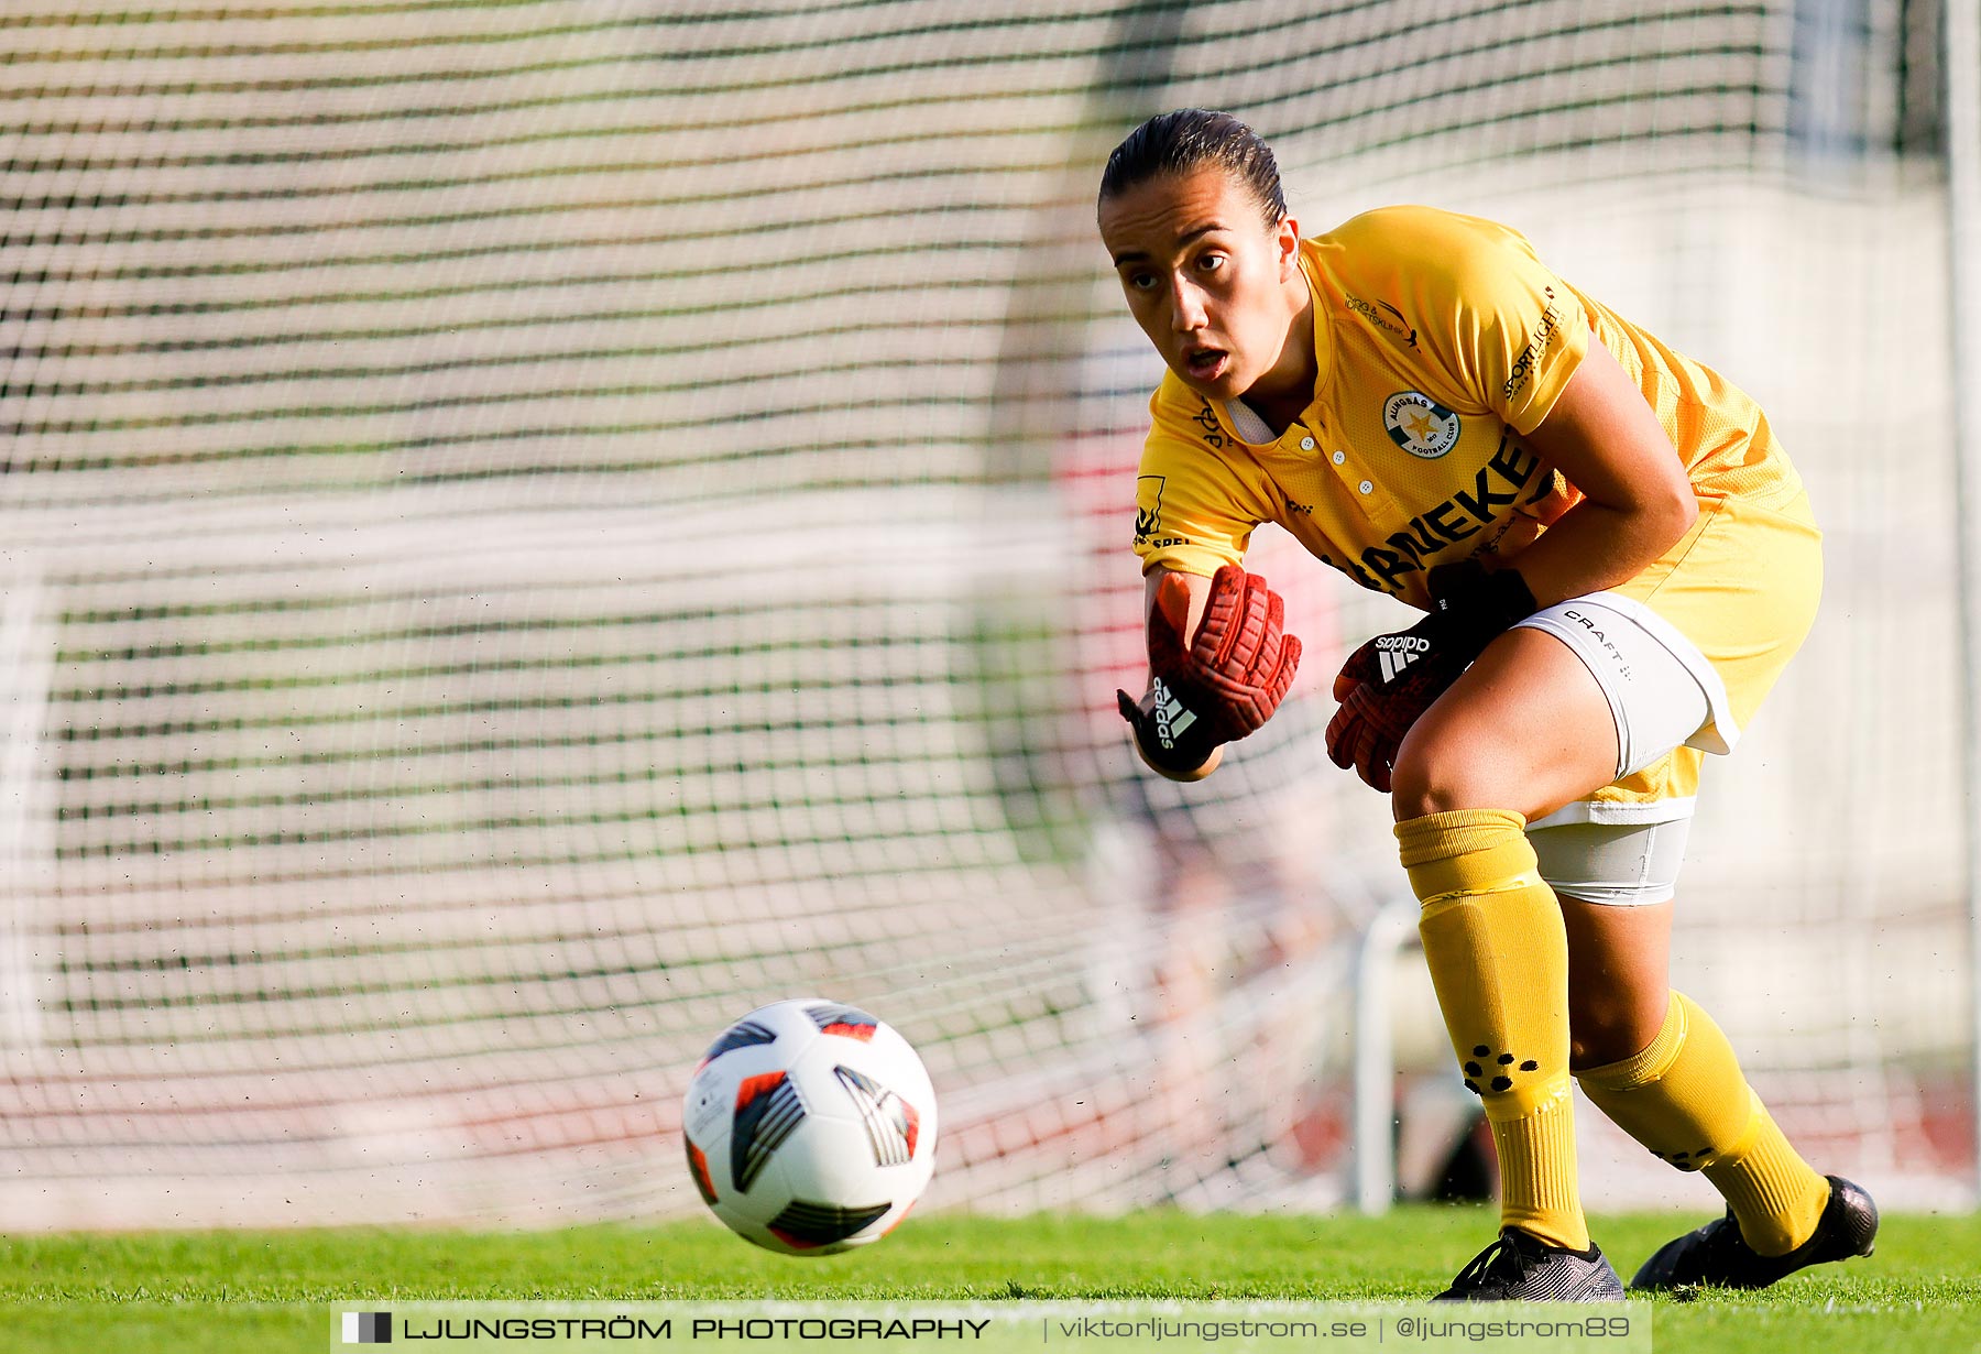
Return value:
M 1199 395 L 1230 400 L 1286 357 L 1298 295 L 1300 232 L 1262 220 L 1242 180 L 1208 167 L 1105 198 L 1101 242 L 1135 323 Z

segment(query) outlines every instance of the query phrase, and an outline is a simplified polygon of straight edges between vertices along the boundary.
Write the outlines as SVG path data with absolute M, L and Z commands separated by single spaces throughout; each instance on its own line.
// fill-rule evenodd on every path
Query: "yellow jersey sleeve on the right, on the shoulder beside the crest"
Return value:
M 1589 353 L 1589 313 L 1517 230 L 1410 212 L 1391 240 L 1410 256 L 1430 357 L 1468 400 L 1533 432 Z M 1403 260 L 1399 260 L 1403 264 Z

